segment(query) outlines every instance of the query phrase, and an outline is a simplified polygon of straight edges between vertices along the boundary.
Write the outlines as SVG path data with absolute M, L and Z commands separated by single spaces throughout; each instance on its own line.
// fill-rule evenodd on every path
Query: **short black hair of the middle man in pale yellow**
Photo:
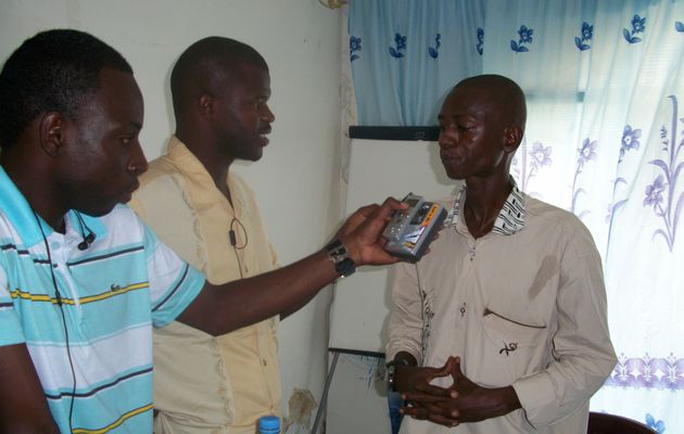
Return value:
M 188 47 L 176 61 L 170 76 L 176 118 L 182 115 L 197 91 L 206 91 L 227 77 L 239 79 L 243 65 L 268 71 L 258 51 L 231 38 L 210 36 Z

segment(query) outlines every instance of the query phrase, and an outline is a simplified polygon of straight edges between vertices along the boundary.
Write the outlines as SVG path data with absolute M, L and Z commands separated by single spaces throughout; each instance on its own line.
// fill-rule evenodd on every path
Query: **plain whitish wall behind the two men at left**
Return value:
M 289 264 L 319 248 L 340 217 L 340 11 L 317 0 L 1 0 L 0 62 L 48 28 L 83 29 L 112 44 L 142 90 L 141 141 L 153 158 L 173 130 L 168 80 L 180 52 L 210 35 L 252 44 L 270 67 L 276 123 L 262 161 L 236 169 L 256 191 L 280 261 Z M 322 392 L 329 297 L 324 291 L 282 323 L 286 413 L 294 387 L 316 399 Z

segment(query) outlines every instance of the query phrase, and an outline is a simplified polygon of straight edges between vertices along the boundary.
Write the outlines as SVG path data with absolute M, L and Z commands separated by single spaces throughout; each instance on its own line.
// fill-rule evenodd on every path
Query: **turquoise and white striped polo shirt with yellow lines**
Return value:
M 61 432 L 151 433 L 152 327 L 173 321 L 204 278 L 125 205 L 83 222 L 72 210 L 61 234 L 2 168 L 0 191 L 0 345 L 27 345 Z

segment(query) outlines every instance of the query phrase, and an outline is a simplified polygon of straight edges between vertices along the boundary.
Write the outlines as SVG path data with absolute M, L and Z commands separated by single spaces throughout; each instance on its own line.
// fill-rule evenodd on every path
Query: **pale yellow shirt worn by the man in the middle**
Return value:
M 150 163 L 130 206 L 159 238 L 215 284 L 273 270 L 254 193 L 239 177 L 226 182 L 233 207 L 194 155 L 172 137 Z M 236 248 L 228 232 L 236 233 Z M 157 434 L 249 433 L 264 414 L 280 416 L 278 318 L 213 337 L 180 322 L 154 332 Z

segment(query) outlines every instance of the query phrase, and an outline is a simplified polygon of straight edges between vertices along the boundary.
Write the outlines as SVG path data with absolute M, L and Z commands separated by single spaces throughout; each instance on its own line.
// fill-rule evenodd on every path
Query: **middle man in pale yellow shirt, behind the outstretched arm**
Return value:
M 254 193 L 229 171 L 268 144 L 266 62 L 242 42 L 210 37 L 180 55 L 170 81 L 176 133 L 129 205 L 210 282 L 277 268 Z M 261 416 L 280 414 L 278 322 L 312 297 L 216 337 L 180 322 L 157 330 L 155 432 L 253 434 Z

